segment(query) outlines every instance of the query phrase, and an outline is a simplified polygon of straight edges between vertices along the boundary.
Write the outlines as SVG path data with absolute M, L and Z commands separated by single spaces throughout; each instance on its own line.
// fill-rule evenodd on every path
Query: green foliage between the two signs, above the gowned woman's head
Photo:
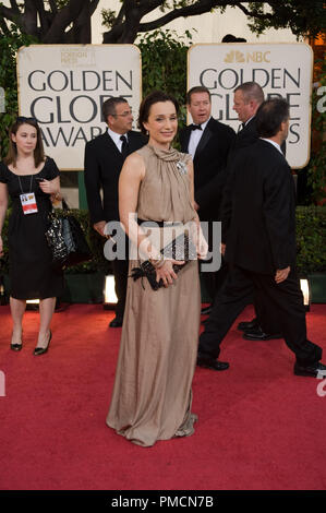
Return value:
M 176 31 L 146 33 L 138 43 L 142 52 L 143 95 L 160 90 L 174 96 L 180 105 L 180 123 L 185 124 L 186 52 L 191 46 L 189 31 L 179 36 Z

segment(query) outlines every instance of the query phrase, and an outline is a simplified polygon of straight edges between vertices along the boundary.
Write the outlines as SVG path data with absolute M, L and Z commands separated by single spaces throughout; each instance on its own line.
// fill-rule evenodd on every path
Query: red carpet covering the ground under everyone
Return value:
M 324 361 L 325 313 L 314 305 L 307 314 Z M 251 317 L 247 308 L 237 323 Z M 321 381 L 293 375 L 282 341 L 244 341 L 236 324 L 221 353 L 230 369 L 196 369 L 193 437 L 143 449 L 116 434 L 105 423 L 121 332 L 107 329 L 111 318 L 101 306 L 70 306 L 55 314 L 48 354 L 34 357 L 38 313 L 26 313 L 16 354 L 9 307 L 0 307 L 1 490 L 326 488 Z

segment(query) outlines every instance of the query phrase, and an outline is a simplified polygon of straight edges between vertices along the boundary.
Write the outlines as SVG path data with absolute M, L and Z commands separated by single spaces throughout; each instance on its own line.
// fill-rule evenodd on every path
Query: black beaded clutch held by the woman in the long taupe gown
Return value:
M 181 234 L 160 252 L 165 259 L 184 261 L 184 264 L 182 265 L 173 264 L 173 271 L 176 274 L 180 273 L 188 262 L 197 259 L 196 248 L 186 234 Z M 160 287 L 164 287 L 162 279 L 159 282 L 156 281 L 156 269 L 149 260 L 145 260 L 145 262 L 143 262 L 138 267 L 134 267 L 131 272 L 131 277 L 134 282 L 138 278 L 146 277 L 153 290 L 158 290 Z

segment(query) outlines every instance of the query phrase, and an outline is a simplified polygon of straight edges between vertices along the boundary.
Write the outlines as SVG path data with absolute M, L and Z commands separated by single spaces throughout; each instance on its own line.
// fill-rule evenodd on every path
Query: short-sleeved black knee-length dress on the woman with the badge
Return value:
M 8 231 L 9 277 L 10 295 L 15 299 L 46 299 L 63 291 L 63 274 L 52 267 L 45 237 L 51 201 L 36 179 L 52 180 L 58 176 L 59 169 L 49 157 L 36 175 L 17 176 L 0 163 L 0 182 L 7 183 L 12 200 Z M 23 213 L 20 195 L 27 192 L 35 193 L 37 213 Z

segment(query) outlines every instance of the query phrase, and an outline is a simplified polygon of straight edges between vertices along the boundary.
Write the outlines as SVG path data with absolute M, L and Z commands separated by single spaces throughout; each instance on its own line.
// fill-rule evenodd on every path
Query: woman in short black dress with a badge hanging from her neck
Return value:
M 45 230 L 51 199 L 60 192 L 59 169 L 45 157 L 39 127 L 34 118 L 19 117 L 10 130 L 10 148 L 0 163 L 1 230 L 12 200 L 9 220 L 10 307 L 13 319 L 11 348 L 22 349 L 22 320 L 26 299 L 39 299 L 39 333 L 34 355 L 48 350 L 56 297 L 63 290 L 62 272 L 51 265 Z

